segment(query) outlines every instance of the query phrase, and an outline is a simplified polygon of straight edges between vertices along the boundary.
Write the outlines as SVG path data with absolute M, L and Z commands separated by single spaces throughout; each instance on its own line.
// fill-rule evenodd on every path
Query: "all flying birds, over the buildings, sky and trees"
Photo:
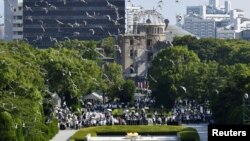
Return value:
M 10 0 L 6 0 L 8 2 L 8 5 L 9 7 L 11 8 L 11 11 L 14 12 L 15 9 L 17 9 L 17 7 L 14 7 L 13 4 L 11 3 Z M 61 0 L 63 2 L 64 5 L 67 4 L 67 0 Z M 79 0 L 81 1 L 83 4 L 88 4 L 88 2 L 86 0 Z M 131 0 L 128 0 L 128 2 L 131 2 Z M 179 3 L 180 1 L 179 0 L 175 0 L 176 3 Z M 36 2 L 35 3 L 35 6 L 36 7 L 39 7 L 41 3 L 45 3 L 46 4 L 46 7 L 42 7 L 41 10 L 44 11 L 44 14 L 48 14 L 50 12 L 50 10 L 57 10 L 57 7 L 50 4 L 48 1 L 46 0 L 40 0 L 39 2 Z M 119 25 L 119 20 L 123 19 L 124 17 L 120 17 L 119 16 L 119 12 L 118 12 L 118 7 L 114 4 L 112 4 L 111 2 L 109 2 L 108 0 L 106 0 L 106 3 L 107 3 L 107 6 L 110 7 L 110 8 L 113 8 L 115 10 L 115 13 L 116 13 L 116 18 L 112 18 L 111 15 L 104 15 L 104 17 L 106 17 L 108 19 L 108 21 L 110 22 L 113 22 L 115 25 Z M 159 9 L 162 9 L 162 6 L 163 6 L 163 3 L 164 3 L 164 0 L 159 0 L 157 2 L 157 7 Z M 33 9 L 27 5 L 24 5 L 24 9 L 25 11 L 30 11 L 30 12 L 33 12 Z M 93 14 L 90 14 L 89 12 L 85 12 L 85 15 L 88 17 L 88 18 L 93 18 L 95 19 L 96 17 L 96 13 L 93 12 Z M 0 15 L 0 18 L 3 18 L 3 16 Z M 177 19 L 179 19 L 179 21 L 181 21 L 181 16 L 180 15 L 177 15 L 176 16 Z M 33 17 L 32 16 L 28 16 L 27 19 L 29 19 L 31 22 L 33 22 Z M 6 21 L 10 21 L 10 19 L 5 19 Z M 46 27 L 45 27 L 45 24 L 42 20 L 39 20 L 38 21 L 40 23 L 40 27 L 42 29 L 43 32 L 46 32 Z M 77 28 L 77 27 L 80 27 L 80 26 L 87 26 L 87 21 L 86 20 L 83 20 L 82 23 L 78 23 L 78 22 L 75 22 L 75 23 L 64 23 L 62 22 L 61 20 L 59 19 L 55 19 L 55 22 L 58 24 L 58 27 L 60 27 L 61 25 L 66 25 L 68 27 L 71 27 L 71 28 Z M 101 25 L 98 25 L 97 26 L 99 29 L 101 29 L 102 31 L 104 31 L 103 27 Z M 58 32 L 61 32 L 60 28 L 58 28 Z M 92 34 L 92 35 L 95 35 L 95 29 L 93 28 L 90 28 L 89 29 L 89 32 Z M 121 34 L 121 30 L 118 28 L 118 35 Z M 80 32 L 74 32 L 73 33 L 73 36 L 79 36 L 81 33 Z M 109 36 L 112 36 L 112 34 L 110 32 L 108 32 Z M 37 36 L 37 39 L 35 39 L 35 41 L 38 41 L 38 40 L 42 40 L 43 36 L 42 35 L 38 35 Z M 57 41 L 57 38 L 53 38 L 53 37 L 49 37 L 50 38 L 50 41 L 51 42 L 58 42 Z M 70 40 L 70 38 L 68 36 L 65 36 L 64 37 L 65 39 L 67 40 Z M 136 39 L 135 39 L 136 40 Z M 115 50 L 118 50 L 119 52 L 121 52 L 121 48 L 118 46 L 118 45 L 115 45 Z M 106 75 L 106 77 L 108 78 L 108 76 Z M 151 75 L 149 75 L 149 78 L 154 82 L 154 83 L 158 83 L 157 80 L 152 77 Z M 109 78 L 108 78 L 109 80 Z M 180 88 L 186 93 L 187 92 L 187 89 L 186 87 L 184 86 L 180 86 Z M 24 88 L 25 89 L 25 88 Z M 15 96 L 15 93 L 13 94 L 14 98 L 16 97 Z M 1 105 L 2 108 L 7 108 L 7 105 L 6 103 L 2 103 Z M 17 109 L 16 106 L 14 106 L 13 104 L 10 104 L 9 106 L 12 110 L 13 109 Z M 36 120 L 36 118 L 35 118 Z M 22 123 L 21 125 L 23 128 L 26 127 L 26 124 L 25 122 Z M 18 124 L 15 124 L 15 128 L 18 128 Z

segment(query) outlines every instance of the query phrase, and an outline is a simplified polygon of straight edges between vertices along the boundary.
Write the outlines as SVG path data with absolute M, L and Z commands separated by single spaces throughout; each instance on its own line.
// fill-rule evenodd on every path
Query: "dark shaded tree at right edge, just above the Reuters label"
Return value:
M 242 123 L 242 97 L 250 90 L 250 67 L 245 64 L 223 66 L 226 85 L 211 99 L 211 110 L 216 123 Z

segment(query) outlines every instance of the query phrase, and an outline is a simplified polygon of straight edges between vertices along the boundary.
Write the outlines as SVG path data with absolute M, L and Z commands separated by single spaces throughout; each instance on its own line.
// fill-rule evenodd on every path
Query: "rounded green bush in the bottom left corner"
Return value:
M 0 113 L 0 138 L 1 141 L 15 141 L 15 125 L 11 115 L 8 112 Z

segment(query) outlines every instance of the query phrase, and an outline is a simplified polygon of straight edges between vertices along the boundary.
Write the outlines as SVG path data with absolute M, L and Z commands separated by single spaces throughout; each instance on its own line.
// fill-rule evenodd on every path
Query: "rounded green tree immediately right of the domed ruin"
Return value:
M 182 80 L 188 66 L 195 62 L 200 62 L 198 56 L 183 46 L 164 49 L 153 59 L 149 81 L 156 106 L 171 108 L 176 97 L 186 93 Z

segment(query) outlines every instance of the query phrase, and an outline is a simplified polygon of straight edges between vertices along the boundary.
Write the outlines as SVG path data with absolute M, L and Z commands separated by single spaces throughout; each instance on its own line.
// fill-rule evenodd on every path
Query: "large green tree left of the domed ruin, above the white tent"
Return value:
M 56 92 L 68 106 L 77 110 L 80 97 L 100 87 L 102 70 L 94 60 L 81 59 L 75 50 L 48 49 L 42 57 L 42 68 L 48 91 Z

